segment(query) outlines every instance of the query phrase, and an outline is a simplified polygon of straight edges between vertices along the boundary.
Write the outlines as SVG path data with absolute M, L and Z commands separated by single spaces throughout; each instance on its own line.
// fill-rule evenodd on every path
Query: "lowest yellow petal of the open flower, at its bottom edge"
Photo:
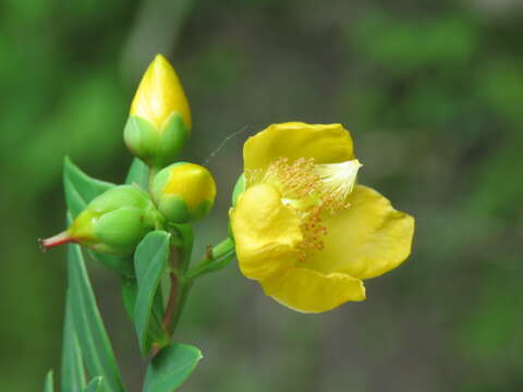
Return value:
M 293 310 L 320 313 L 348 301 L 364 301 L 365 286 L 345 273 L 323 274 L 306 268 L 260 281 L 267 295 Z

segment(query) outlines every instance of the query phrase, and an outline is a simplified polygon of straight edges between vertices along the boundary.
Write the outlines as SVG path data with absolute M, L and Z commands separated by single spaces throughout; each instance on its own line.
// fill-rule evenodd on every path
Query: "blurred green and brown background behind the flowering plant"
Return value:
M 204 352 L 182 391 L 523 390 L 523 10 L 519 0 L 2 0 L 0 390 L 59 369 L 65 154 L 121 182 L 122 128 L 165 53 L 194 117 L 184 159 L 219 184 L 196 254 L 226 235 L 244 139 L 341 122 L 360 182 L 416 217 L 413 255 L 368 299 L 301 315 L 234 264 L 195 285 L 178 339 Z M 92 278 L 129 390 L 145 364 L 118 279 Z

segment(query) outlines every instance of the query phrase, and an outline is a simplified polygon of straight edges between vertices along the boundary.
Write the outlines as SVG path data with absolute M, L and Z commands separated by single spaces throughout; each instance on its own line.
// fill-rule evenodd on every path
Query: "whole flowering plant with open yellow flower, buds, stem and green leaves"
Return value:
M 411 252 L 414 219 L 356 183 L 362 164 L 349 132 L 340 124 L 289 122 L 270 125 L 245 143 L 229 230 L 223 222 L 228 235 L 192 267 L 192 223 L 212 208 L 217 186 L 206 168 L 175 161 L 191 131 L 178 75 L 157 56 L 123 132 L 136 156 L 125 184 L 95 180 L 64 161 L 68 229 L 41 241 L 45 249 L 69 244 L 63 392 L 125 390 L 86 256 L 120 275 L 123 306 L 149 360 L 143 391 L 170 392 L 202 358 L 198 348 L 172 343 L 200 275 L 238 257 L 242 273 L 258 281 L 268 296 L 297 311 L 321 313 L 365 299 L 363 280 L 398 267 Z M 49 372 L 45 391 L 53 389 Z

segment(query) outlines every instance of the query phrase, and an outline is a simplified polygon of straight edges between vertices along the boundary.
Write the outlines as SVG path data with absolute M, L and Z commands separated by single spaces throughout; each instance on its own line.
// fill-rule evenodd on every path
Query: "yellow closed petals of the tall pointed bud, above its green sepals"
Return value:
M 145 118 L 161 130 L 173 112 L 180 113 L 191 131 L 191 110 L 177 72 L 163 56 L 157 54 L 139 83 L 131 114 Z

